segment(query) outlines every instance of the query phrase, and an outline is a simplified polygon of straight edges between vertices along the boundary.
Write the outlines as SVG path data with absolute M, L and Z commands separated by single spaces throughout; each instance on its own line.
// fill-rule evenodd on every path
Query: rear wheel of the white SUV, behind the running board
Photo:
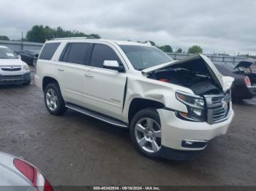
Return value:
M 50 114 L 61 115 L 67 111 L 61 90 L 57 83 L 51 83 L 45 87 L 45 106 Z

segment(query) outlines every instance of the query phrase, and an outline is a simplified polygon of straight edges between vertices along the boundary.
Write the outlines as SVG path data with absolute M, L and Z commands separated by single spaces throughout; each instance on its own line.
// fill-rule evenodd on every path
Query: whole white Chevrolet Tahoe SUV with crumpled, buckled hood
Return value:
M 187 160 L 227 132 L 233 78 L 205 55 L 173 61 L 136 42 L 67 38 L 45 43 L 36 85 L 51 114 L 67 108 L 129 128 L 147 157 Z

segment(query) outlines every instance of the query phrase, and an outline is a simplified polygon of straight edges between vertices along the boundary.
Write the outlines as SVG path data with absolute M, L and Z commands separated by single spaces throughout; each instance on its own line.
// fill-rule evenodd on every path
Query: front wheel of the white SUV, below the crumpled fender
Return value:
M 146 157 L 159 158 L 161 123 L 156 109 L 143 109 L 130 123 L 130 136 L 139 152 Z

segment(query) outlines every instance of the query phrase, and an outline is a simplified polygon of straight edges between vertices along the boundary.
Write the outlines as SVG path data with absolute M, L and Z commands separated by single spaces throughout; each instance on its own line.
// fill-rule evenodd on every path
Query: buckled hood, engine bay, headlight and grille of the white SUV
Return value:
M 176 91 L 176 99 L 187 106 L 187 112 L 176 112 L 178 118 L 209 124 L 227 119 L 233 78 L 223 77 L 205 55 L 192 55 L 143 73 L 150 79 L 187 87 L 195 93 Z

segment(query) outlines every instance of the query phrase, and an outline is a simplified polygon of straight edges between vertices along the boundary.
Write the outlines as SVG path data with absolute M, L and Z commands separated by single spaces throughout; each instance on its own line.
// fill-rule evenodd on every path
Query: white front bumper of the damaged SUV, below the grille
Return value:
M 166 109 L 157 109 L 157 112 L 161 120 L 162 148 L 165 151 L 170 149 L 172 152 L 178 150 L 180 154 L 182 151 L 189 152 L 189 155 L 192 152 L 195 153 L 195 151 L 204 149 L 206 144 L 205 147 L 184 147 L 184 140 L 203 141 L 207 143 L 207 141 L 214 139 L 214 137 L 225 134 L 234 117 L 232 107 L 230 107 L 230 111 L 227 114 L 227 120 L 212 125 L 207 122 L 181 120 L 176 117 L 175 112 Z

